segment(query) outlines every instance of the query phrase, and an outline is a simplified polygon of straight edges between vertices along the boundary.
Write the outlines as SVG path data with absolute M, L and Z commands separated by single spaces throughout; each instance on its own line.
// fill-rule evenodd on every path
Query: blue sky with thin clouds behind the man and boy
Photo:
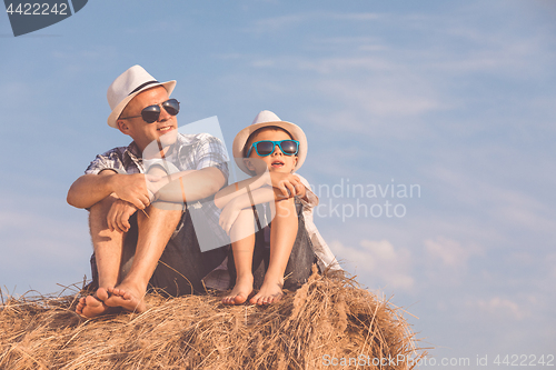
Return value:
M 66 193 L 129 143 L 106 90 L 138 63 L 178 81 L 180 124 L 217 116 L 228 147 L 262 109 L 298 123 L 322 236 L 438 361 L 556 354 L 555 19 L 552 1 L 89 1 L 13 38 L 0 16 L 0 286 L 90 277 Z

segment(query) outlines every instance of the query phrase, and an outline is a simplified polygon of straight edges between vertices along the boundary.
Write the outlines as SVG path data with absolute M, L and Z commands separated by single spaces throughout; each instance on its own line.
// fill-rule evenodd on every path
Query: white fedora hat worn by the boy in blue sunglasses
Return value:
M 307 157 L 307 137 L 305 136 L 304 130 L 295 123 L 291 122 L 286 122 L 282 121 L 272 113 L 269 110 L 264 110 L 255 117 L 255 120 L 252 123 L 241 131 L 236 134 L 236 138 L 234 139 L 234 144 L 231 146 L 231 151 L 234 153 L 234 159 L 236 160 L 236 163 L 238 167 L 241 169 L 241 171 L 251 174 L 251 171 L 245 166 L 244 163 L 244 157 L 245 157 L 245 146 L 247 143 L 247 140 L 249 140 L 249 137 L 251 133 L 257 131 L 258 129 L 261 129 L 264 127 L 268 126 L 276 126 L 279 127 L 291 134 L 294 140 L 299 141 L 299 151 L 297 152 L 297 164 L 296 168 L 294 169 L 297 171 L 305 162 L 305 158 Z

